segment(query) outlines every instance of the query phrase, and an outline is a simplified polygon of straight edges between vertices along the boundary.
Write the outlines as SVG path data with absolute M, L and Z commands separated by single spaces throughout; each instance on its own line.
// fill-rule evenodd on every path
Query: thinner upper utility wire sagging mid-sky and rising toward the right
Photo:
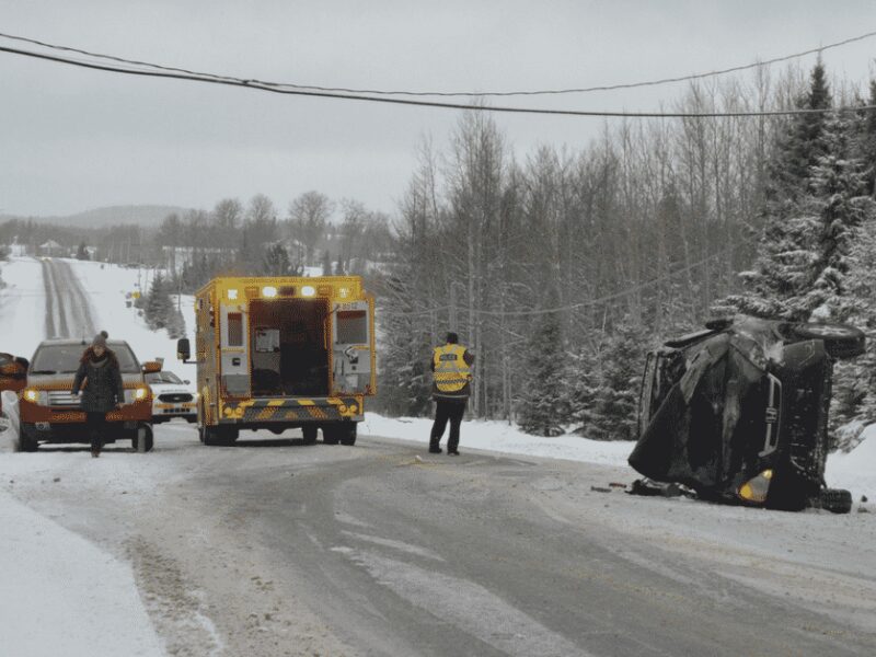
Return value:
M 818 48 L 810 48 L 808 50 L 803 50 L 800 53 L 794 53 L 792 55 L 783 55 L 781 57 L 773 57 L 772 59 L 766 59 L 763 61 L 754 61 L 751 64 L 734 66 L 725 69 L 718 69 L 713 71 L 706 71 L 702 73 L 691 73 L 688 76 L 678 76 L 673 78 L 661 78 L 659 80 L 647 80 L 641 82 L 629 82 L 629 83 L 621 83 L 621 84 L 606 84 L 600 87 L 583 87 L 583 88 L 572 88 L 572 89 L 548 89 L 548 90 L 533 90 L 533 91 L 387 91 L 387 90 L 379 90 L 379 89 L 351 89 L 351 88 L 343 88 L 343 87 L 320 87 L 315 84 L 297 84 L 292 82 L 266 82 L 264 80 L 249 80 L 249 82 L 257 83 L 264 87 L 279 87 L 279 88 L 287 88 L 287 89 L 297 89 L 297 90 L 312 90 L 312 91 L 323 91 L 330 93 L 344 93 L 344 94 L 365 94 L 365 95 L 402 95 L 402 96 L 441 96 L 441 97 L 452 97 L 452 96 L 468 96 L 468 97 L 486 97 L 486 96 L 534 96 L 534 95 L 561 95 L 561 94 L 570 94 L 570 93 L 592 93 L 597 91 L 615 91 L 621 89 L 636 89 L 641 87 L 657 87 L 660 84 L 669 84 L 675 82 L 685 82 L 690 80 L 702 80 L 703 78 L 713 78 L 717 76 L 724 76 L 727 73 L 734 73 L 739 71 L 749 70 L 752 68 L 759 68 L 764 66 L 771 66 L 773 64 L 779 64 L 782 61 L 789 61 L 791 59 L 797 59 L 799 57 L 805 57 L 807 55 L 814 55 L 816 53 L 822 53 L 823 50 L 829 50 L 831 48 L 839 48 L 841 46 L 845 46 L 852 43 L 861 42 L 867 38 L 872 38 L 876 36 L 876 32 L 867 32 L 865 34 L 861 34 L 858 36 L 853 36 L 850 38 L 845 38 L 843 41 L 839 41 L 832 44 L 828 44 L 826 46 L 820 46 Z M 187 69 L 176 68 L 176 67 L 168 67 L 161 66 L 158 64 L 150 64 L 147 61 L 137 61 L 132 59 L 125 59 L 123 57 L 116 57 L 113 55 L 103 55 L 100 53 L 92 53 L 89 50 L 83 50 L 80 48 L 73 48 L 70 46 L 60 46 L 56 44 L 49 44 L 46 42 L 37 41 L 34 38 L 28 38 L 25 36 L 16 36 L 13 34 L 3 34 L 0 33 L 0 37 L 28 43 L 36 46 L 42 46 L 45 48 L 51 48 L 55 50 L 68 51 L 68 53 L 78 53 L 80 55 L 88 55 L 89 57 L 96 57 L 101 59 L 108 59 L 112 61 L 116 61 L 119 64 L 128 64 L 134 66 L 145 66 L 157 70 L 164 70 L 164 71 L 172 71 L 177 73 L 186 73 L 197 77 L 209 77 L 209 78 L 217 78 L 222 80 L 233 80 L 235 78 L 230 78 L 227 76 L 217 76 L 214 73 L 204 73 L 192 71 Z M 239 78 L 238 78 L 239 80 Z

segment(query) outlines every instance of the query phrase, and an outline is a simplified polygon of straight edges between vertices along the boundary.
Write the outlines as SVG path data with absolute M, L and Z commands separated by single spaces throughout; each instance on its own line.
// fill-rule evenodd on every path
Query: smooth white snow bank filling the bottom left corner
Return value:
M 1 491 L 0 527 L 4 655 L 164 655 L 126 564 Z

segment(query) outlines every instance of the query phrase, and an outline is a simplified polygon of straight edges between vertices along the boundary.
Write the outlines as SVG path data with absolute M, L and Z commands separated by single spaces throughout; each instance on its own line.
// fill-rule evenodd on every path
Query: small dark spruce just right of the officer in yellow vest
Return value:
M 550 295 L 556 300 L 556 295 Z M 535 436 L 560 436 L 567 422 L 566 359 L 557 313 L 537 320 L 527 347 L 526 383 L 520 400 L 520 428 Z

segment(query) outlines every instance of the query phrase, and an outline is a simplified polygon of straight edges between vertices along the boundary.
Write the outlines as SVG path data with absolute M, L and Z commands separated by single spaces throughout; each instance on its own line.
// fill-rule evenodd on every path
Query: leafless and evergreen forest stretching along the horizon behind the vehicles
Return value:
M 876 104 L 818 62 L 698 82 L 683 113 Z M 531 433 L 633 439 L 644 354 L 747 312 L 876 330 L 876 113 L 630 119 L 578 149 L 521 157 L 488 113 L 461 116 L 394 216 L 319 192 L 171 215 L 158 230 L 0 224 L 37 245 L 168 269 L 193 291 L 217 273 L 366 276 L 379 307 L 380 395 L 430 410 L 428 360 L 448 330 L 476 354 L 470 412 Z M 873 341 L 871 341 L 873 344 Z M 876 345 L 874 345 L 876 346 Z M 834 423 L 875 420 L 874 353 L 838 366 Z

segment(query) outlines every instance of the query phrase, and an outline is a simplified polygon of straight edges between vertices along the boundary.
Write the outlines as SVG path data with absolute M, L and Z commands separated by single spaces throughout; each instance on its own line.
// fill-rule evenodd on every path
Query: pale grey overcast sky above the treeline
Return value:
M 874 30 L 873 0 L 0 0 L 8 34 L 243 78 L 410 90 L 633 82 Z M 863 84 L 874 55 L 876 38 L 823 59 L 831 74 Z M 682 91 L 668 84 L 514 102 L 648 111 Z M 494 116 L 520 157 L 540 143 L 580 149 L 602 126 Z M 393 212 L 422 138 L 443 147 L 458 118 L 456 111 L 150 80 L 0 53 L 0 212 L 211 208 L 263 193 L 285 215 L 309 189 Z

